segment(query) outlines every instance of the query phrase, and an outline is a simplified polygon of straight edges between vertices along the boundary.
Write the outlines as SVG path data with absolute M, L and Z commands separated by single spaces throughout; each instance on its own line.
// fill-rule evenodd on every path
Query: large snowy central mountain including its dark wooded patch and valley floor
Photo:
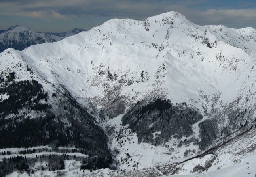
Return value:
M 117 170 L 87 176 L 187 175 L 255 154 L 255 39 L 254 28 L 199 26 L 176 12 L 112 19 L 57 43 L 5 50 L 0 72 L 37 80 L 48 95 L 68 93 L 94 117 Z

